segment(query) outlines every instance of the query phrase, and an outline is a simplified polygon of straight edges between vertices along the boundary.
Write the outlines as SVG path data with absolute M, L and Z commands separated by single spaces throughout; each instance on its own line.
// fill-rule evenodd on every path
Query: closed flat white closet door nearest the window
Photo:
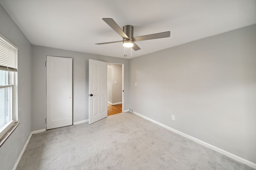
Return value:
M 46 57 L 46 129 L 72 125 L 72 59 Z

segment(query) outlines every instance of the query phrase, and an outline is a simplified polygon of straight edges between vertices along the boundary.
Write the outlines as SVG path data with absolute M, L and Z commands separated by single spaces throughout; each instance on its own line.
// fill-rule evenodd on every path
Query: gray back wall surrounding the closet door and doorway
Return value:
M 73 58 L 73 122 L 88 119 L 88 60 L 124 64 L 124 109 L 129 106 L 130 61 L 32 45 L 32 130 L 45 129 L 46 55 Z

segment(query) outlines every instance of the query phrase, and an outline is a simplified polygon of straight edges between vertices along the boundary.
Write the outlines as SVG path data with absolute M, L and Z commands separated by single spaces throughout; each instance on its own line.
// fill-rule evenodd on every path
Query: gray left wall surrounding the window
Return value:
M 18 119 L 20 125 L 0 147 L 0 169 L 11 170 L 31 133 L 31 44 L 0 5 L 0 33 L 18 49 Z

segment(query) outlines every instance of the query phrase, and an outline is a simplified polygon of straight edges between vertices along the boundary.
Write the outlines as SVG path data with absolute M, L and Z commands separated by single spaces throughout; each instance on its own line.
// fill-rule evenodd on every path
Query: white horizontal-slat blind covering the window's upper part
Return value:
M 17 71 L 18 47 L 0 34 L 0 70 Z

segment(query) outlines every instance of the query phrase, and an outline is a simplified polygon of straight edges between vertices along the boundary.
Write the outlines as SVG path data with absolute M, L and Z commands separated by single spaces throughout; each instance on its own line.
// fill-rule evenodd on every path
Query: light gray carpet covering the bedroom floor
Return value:
M 133 113 L 32 136 L 17 170 L 253 170 Z

